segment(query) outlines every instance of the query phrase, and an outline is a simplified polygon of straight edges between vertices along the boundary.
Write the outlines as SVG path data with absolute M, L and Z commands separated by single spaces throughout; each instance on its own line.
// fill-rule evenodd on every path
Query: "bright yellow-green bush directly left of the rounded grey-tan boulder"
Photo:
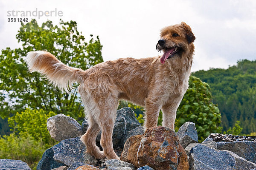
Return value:
M 38 111 L 27 108 L 25 111 L 9 117 L 8 123 L 15 134 L 20 136 L 30 135 L 33 139 L 41 140 L 47 147 L 51 147 L 56 142 L 51 138 L 46 123 L 49 117 L 55 115 L 52 111 L 47 113 L 43 109 Z

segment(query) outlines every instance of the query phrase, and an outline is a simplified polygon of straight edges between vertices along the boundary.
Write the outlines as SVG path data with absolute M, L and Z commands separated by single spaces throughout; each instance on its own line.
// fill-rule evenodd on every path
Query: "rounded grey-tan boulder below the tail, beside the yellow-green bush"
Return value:
M 58 114 L 47 119 L 47 129 L 51 137 L 57 141 L 82 136 L 81 125 L 72 117 Z

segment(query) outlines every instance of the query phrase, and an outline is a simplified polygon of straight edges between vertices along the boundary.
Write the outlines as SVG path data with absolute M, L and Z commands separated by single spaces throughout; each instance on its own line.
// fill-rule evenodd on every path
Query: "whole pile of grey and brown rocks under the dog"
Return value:
M 144 132 L 131 108 L 122 108 L 113 130 L 113 147 L 121 161 L 97 160 L 85 153 L 79 140 L 87 127 L 87 120 L 81 126 L 63 114 L 49 118 L 47 128 L 60 143 L 45 151 L 37 170 L 256 170 L 255 136 L 212 133 L 198 143 L 193 122 L 177 133 L 162 126 Z M 100 134 L 98 146 L 99 141 Z

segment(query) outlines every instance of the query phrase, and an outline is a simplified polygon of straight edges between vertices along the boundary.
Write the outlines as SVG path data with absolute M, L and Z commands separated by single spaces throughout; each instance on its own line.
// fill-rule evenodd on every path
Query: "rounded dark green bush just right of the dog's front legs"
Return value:
M 210 87 L 199 78 L 190 76 L 189 89 L 186 91 L 175 121 L 175 130 L 185 122 L 194 122 L 198 131 L 198 140 L 203 141 L 210 133 L 218 133 L 221 127 L 221 114 L 212 103 Z

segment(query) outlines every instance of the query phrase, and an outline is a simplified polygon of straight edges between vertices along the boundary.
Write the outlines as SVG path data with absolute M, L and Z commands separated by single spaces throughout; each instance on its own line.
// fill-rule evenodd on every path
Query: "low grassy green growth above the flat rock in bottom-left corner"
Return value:
M 36 169 L 46 149 L 44 142 L 35 140 L 29 134 L 17 136 L 11 133 L 10 136 L 0 137 L 0 158 L 25 161 L 31 169 Z

